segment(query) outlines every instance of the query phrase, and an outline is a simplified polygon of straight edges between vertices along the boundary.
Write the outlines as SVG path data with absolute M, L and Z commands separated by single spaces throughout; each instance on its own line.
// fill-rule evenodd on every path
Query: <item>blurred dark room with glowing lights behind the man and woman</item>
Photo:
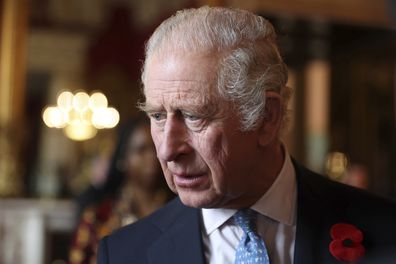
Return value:
M 0 263 L 68 263 L 75 201 L 137 115 L 145 41 L 201 5 L 276 27 L 293 157 L 396 200 L 396 1 L 0 0 Z

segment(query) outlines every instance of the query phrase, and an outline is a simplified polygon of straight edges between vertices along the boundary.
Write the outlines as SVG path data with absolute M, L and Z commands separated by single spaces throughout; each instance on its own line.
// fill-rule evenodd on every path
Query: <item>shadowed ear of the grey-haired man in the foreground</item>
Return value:
M 282 97 L 280 94 L 267 91 L 264 118 L 259 127 L 259 145 L 266 146 L 278 138 L 283 117 Z

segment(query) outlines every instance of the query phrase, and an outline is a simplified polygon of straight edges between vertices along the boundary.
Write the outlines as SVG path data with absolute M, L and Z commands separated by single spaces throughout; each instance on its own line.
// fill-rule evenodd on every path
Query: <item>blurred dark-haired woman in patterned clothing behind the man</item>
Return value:
M 129 121 L 119 135 L 105 184 L 99 189 L 90 187 L 82 196 L 86 208 L 73 236 L 70 263 L 96 263 L 96 248 L 103 236 L 150 214 L 172 196 L 147 118 Z M 93 200 L 99 202 L 92 204 Z

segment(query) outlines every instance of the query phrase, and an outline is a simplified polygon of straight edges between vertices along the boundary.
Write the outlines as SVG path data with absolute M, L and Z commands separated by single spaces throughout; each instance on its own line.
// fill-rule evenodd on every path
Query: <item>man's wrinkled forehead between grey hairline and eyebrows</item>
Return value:
M 146 104 L 154 108 L 216 105 L 219 99 L 217 64 L 217 60 L 207 54 L 167 53 L 166 57 L 156 54 L 147 64 Z

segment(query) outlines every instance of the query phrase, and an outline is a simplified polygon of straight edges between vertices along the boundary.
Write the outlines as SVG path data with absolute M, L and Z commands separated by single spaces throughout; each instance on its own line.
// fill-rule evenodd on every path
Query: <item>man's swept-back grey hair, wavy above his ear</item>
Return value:
M 264 118 L 266 91 L 279 93 L 287 110 L 287 67 L 276 45 L 275 30 L 263 17 L 222 7 L 178 11 L 155 30 L 146 45 L 143 84 L 149 59 L 154 53 L 167 52 L 217 54 L 218 93 L 237 106 L 244 131 L 257 128 Z

